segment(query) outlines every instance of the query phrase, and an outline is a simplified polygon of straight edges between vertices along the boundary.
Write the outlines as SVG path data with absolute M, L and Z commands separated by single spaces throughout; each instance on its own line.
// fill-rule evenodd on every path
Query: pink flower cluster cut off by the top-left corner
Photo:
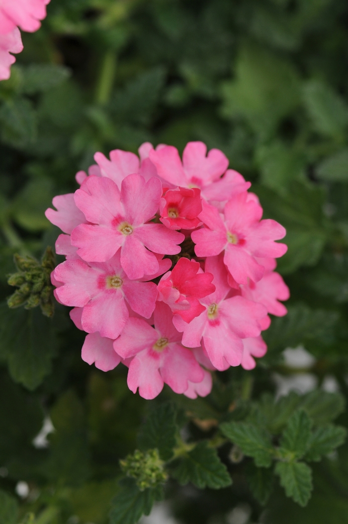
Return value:
M 34 32 L 46 17 L 50 0 L 0 0 L 0 80 L 10 77 L 10 66 L 16 61 L 13 54 L 23 51 L 20 27 Z

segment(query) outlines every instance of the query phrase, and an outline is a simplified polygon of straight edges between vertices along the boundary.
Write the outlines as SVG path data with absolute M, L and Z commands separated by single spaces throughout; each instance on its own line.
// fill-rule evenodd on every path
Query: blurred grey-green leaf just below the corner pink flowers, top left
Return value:
M 23 80 L 20 90 L 26 94 L 48 91 L 70 76 L 68 68 L 57 64 L 30 64 L 21 72 Z

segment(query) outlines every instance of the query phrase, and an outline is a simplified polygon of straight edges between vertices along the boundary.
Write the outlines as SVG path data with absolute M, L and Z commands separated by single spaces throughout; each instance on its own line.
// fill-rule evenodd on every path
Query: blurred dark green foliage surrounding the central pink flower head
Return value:
M 39 258 L 54 245 L 58 230 L 43 212 L 53 195 L 77 188 L 74 174 L 95 151 L 136 152 L 147 140 L 182 151 L 203 140 L 253 182 L 264 216 L 287 228 L 278 270 L 291 299 L 253 372 L 217 374 L 205 400 L 173 396 L 187 438 L 206 438 L 218 412 L 274 395 L 298 376 L 335 392 L 343 406 L 347 37 L 344 0 L 51 0 L 0 83 L 2 299 L 13 292 L 6 276 L 14 253 Z M 83 334 L 66 309 L 58 305 L 50 320 L 38 308 L 0 307 L 1 524 L 108 522 L 118 461 L 135 449 L 151 404 L 127 389 L 123 366 L 103 374 L 82 362 Z M 312 355 L 303 365 L 283 353 L 299 345 Z M 346 411 L 338 422 L 348 426 Z M 231 462 L 229 452 L 227 445 L 220 454 L 231 487 L 167 486 L 180 522 L 348 523 L 348 444 L 313 468 L 306 508 L 280 487 L 262 506 L 246 481 L 248 461 Z

